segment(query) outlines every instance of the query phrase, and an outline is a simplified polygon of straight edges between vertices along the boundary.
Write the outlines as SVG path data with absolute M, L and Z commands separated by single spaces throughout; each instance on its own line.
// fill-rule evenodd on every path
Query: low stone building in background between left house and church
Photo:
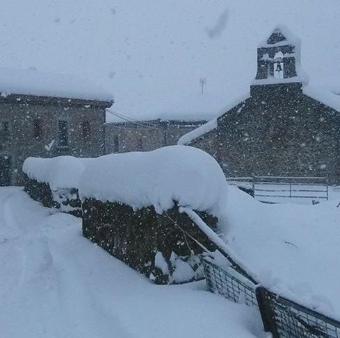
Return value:
M 149 120 L 106 124 L 106 153 L 152 151 L 177 144 L 179 138 L 206 121 Z

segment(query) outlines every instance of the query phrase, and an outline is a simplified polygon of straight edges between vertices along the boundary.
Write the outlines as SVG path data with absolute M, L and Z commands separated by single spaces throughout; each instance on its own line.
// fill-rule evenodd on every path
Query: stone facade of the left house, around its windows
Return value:
M 7 121 L 7 142 L 0 155 L 12 162 L 12 185 L 23 185 L 22 164 L 29 156 L 57 155 L 96 157 L 105 153 L 104 119 L 108 103 L 76 99 L 10 95 L 0 98 L 0 123 Z M 40 120 L 40 136 L 34 135 L 35 119 Z M 68 122 L 68 146 L 58 146 L 58 119 Z M 83 121 L 90 124 L 90 135 L 83 136 Z

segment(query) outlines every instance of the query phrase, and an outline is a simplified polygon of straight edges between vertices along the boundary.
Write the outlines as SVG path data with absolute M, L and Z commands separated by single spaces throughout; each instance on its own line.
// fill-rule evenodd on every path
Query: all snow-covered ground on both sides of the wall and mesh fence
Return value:
M 230 253 L 273 291 L 340 318 L 340 208 L 266 204 L 229 187 Z M 266 337 L 256 309 L 203 282 L 156 286 L 17 187 L 0 188 L 1 337 Z

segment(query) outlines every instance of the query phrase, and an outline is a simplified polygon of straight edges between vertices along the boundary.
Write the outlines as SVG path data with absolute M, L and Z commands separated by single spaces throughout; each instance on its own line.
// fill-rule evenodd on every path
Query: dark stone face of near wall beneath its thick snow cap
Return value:
M 216 225 L 213 217 L 200 215 L 211 226 Z M 153 207 L 133 211 L 120 203 L 93 198 L 83 201 L 83 235 L 158 284 L 187 282 L 202 276 L 202 248 L 181 229 L 214 250 L 207 236 L 177 207 L 159 215 Z M 179 264 L 192 271 L 191 278 L 176 278 Z

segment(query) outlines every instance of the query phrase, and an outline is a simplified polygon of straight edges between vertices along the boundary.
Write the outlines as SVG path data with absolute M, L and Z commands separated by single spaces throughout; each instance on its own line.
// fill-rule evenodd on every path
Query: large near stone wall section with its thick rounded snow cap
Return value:
M 196 280 L 215 244 L 181 207 L 214 228 L 226 188 L 218 163 L 189 146 L 102 156 L 79 184 L 83 235 L 156 283 Z

